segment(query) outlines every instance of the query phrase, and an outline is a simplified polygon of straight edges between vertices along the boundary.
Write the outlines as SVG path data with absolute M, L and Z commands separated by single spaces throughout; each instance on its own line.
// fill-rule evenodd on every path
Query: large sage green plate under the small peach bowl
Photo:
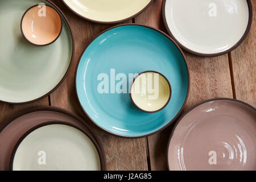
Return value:
M 47 3 L 41 0 L 0 1 L 0 101 L 20 104 L 42 98 L 67 75 L 73 42 L 64 17 L 59 39 L 49 46 L 34 46 L 22 36 L 22 15 L 29 7 L 42 2 Z

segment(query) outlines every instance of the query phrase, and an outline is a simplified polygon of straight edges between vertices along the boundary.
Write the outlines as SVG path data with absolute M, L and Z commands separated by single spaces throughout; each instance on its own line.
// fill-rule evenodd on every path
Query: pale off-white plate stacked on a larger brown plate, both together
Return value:
M 0 170 L 104 170 L 98 138 L 76 115 L 34 107 L 0 126 Z

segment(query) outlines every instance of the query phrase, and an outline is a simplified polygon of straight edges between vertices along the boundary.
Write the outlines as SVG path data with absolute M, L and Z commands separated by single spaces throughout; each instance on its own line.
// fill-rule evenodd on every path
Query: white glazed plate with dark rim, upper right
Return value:
M 165 0 L 163 19 L 169 34 L 189 52 L 217 56 L 239 46 L 252 20 L 250 0 Z

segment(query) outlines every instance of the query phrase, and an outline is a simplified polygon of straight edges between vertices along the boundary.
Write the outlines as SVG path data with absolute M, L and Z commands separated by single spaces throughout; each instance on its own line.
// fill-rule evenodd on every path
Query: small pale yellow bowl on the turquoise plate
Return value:
M 131 101 L 146 113 L 156 113 L 168 105 L 171 85 L 167 78 L 156 71 L 139 73 L 130 88 Z

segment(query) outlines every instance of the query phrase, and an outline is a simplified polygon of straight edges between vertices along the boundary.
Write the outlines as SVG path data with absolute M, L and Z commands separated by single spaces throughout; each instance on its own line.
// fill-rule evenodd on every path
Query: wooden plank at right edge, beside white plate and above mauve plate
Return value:
M 251 30 L 243 43 L 231 52 L 236 98 L 256 107 L 256 1 Z

